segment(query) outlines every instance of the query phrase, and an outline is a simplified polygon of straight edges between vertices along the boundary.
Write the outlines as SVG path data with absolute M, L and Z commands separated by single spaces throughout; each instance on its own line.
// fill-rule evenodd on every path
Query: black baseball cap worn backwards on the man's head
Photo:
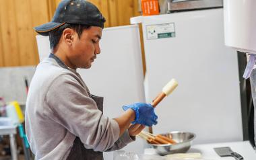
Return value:
M 63 0 L 59 3 L 51 22 L 34 28 L 38 34 L 48 36 L 49 32 L 63 24 L 82 24 L 104 28 L 106 19 L 98 8 L 86 0 Z

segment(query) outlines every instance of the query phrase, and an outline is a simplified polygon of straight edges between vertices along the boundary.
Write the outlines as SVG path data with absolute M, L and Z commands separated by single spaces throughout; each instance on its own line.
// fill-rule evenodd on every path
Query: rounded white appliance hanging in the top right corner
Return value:
M 256 54 L 256 1 L 224 0 L 225 44 Z

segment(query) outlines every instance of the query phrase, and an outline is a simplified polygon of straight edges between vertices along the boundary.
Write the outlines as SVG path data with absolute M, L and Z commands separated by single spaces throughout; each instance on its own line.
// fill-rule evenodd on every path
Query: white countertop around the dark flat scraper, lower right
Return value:
M 192 145 L 188 152 L 199 152 L 202 154 L 203 159 L 234 160 L 233 157 L 220 157 L 217 155 L 214 151 L 215 147 L 230 147 L 232 151 L 242 155 L 245 160 L 256 160 L 256 152 L 249 141 Z

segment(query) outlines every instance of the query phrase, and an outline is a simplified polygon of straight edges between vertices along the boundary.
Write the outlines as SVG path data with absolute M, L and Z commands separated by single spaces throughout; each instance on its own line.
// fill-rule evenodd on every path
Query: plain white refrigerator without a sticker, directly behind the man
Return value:
M 49 56 L 48 36 L 36 36 L 40 60 Z M 137 26 L 105 28 L 100 40 L 102 52 L 91 69 L 78 72 L 94 95 L 104 97 L 104 115 L 115 118 L 123 113 L 121 106 L 145 102 L 141 46 Z M 143 153 L 143 140 L 137 138 L 123 150 Z M 112 160 L 113 152 L 104 153 Z

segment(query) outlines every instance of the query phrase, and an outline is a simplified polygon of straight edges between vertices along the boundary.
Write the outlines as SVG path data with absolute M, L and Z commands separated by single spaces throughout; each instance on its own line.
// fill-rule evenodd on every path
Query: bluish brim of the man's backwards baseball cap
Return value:
M 34 30 L 36 30 L 36 32 L 38 32 L 38 34 L 42 36 L 49 36 L 49 32 L 51 30 L 55 30 L 56 28 L 59 28 L 63 24 L 65 24 L 65 22 L 64 23 L 49 22 L 47 24 L 42 24 L 41 26 L 35 27 Z

